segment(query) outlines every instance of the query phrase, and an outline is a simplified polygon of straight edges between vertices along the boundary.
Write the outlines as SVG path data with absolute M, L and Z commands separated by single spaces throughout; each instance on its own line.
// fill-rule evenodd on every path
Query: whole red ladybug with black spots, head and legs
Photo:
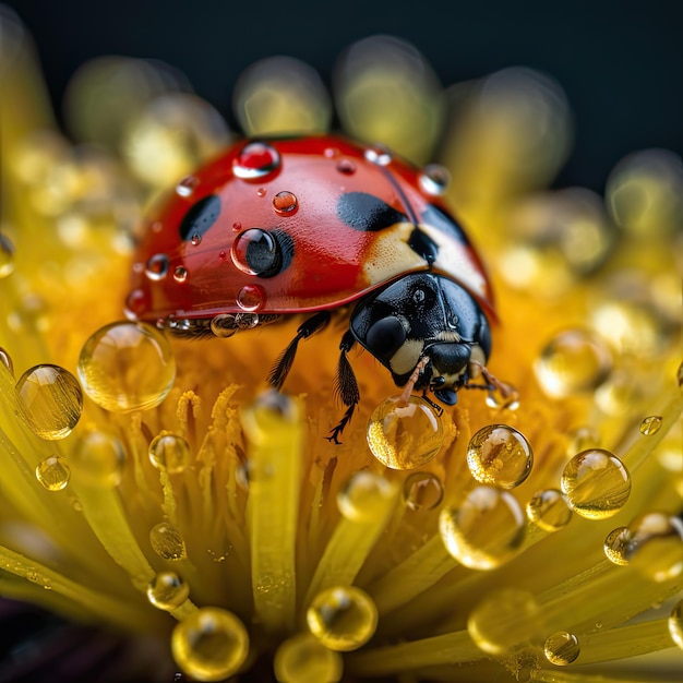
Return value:
M 462 387 L 495 384 L 486 369 L 494 313 L 481 260 L 439 199 L 446 181 L 441 167 L 337 136 L 242 141 L 149 219 L 127 314 L 219 337 L 308 314 L 268 375 L 279 390 L 299 342 L 352 305 L 336 376 L 346 412 L 331 441 L 360 400 L 355 344 L 397 386 L 454 405 Z M 486 384 L 472 384 L 482 373 Z

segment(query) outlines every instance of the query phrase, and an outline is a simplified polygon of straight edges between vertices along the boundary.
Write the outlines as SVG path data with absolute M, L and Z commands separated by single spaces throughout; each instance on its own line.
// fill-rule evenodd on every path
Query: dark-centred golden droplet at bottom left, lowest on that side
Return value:
M 199 681 L 223 681 L 244 663 L 249 634 L 231 612 L 203 607 L 180 622 L 171 635 L 176 663 Z

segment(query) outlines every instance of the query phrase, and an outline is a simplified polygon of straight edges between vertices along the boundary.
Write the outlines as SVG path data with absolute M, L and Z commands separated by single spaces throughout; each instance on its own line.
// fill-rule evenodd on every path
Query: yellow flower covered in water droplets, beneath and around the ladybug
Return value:
M 430 459 L 433 434 L 360 355 L 337 446 L 343 320 L 283 394 L 265 376 L 300 321 L 190 342 L 121 320 L 141 206 L 229 139 L 213 109 L 159 65 L 98 60 L 69 101 L 100 146 L 72 146 L 1 27 L 3 596 L 161 643 L 200 681 L 680 678 L 680 158 L 624 159 L 606 202 L 544 191 L 571 139 L 555 83 L 443 91 L 398 40 L 352 46 L 340 120 L 448 170 L 495 285 L 490 369 L 519 400 L 418 412 L 443 440 Z M 248 134 L 329 124 L 295 60 L 257 64 L 236 99 Z M 393 467 L 373 456 L 392 450 Z

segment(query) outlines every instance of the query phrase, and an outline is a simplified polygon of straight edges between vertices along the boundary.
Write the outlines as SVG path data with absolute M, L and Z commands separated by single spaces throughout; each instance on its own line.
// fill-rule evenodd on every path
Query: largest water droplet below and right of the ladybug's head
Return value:
M 444 507 L 439 530 L 446 550 L 471 570 L 493 570 L 522 544 L 525 518 L 507 491 L 477 487 L 457 506 Z

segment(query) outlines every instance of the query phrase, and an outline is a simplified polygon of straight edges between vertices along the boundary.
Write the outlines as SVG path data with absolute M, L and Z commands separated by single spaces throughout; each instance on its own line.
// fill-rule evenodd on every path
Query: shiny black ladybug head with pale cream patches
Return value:
M 447 405 L 470 379 L 470 361 L 486 363 L 491 350 L 489 323 L 477 302 L 447 277 L 431 273 L 405 275 L 362 299 L 350 329 L 397 386 L 426 358 L 415 386 L 431 388 Z

